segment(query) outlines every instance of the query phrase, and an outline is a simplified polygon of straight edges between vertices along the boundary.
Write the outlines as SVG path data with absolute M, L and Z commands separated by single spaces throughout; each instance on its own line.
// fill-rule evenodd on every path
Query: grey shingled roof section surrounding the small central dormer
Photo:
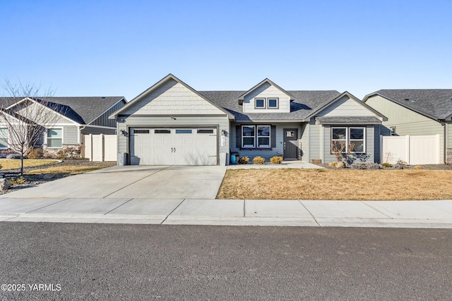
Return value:
M 290 104 L 290 113 L 243 113 L 237 100 L 246 91 L 199 91 L 207 99 L 232 113 L 236 121 L 302 121 L 311 112 L 330 102 L 340 93 L 326 91 L 287 91 L 294 97 Z

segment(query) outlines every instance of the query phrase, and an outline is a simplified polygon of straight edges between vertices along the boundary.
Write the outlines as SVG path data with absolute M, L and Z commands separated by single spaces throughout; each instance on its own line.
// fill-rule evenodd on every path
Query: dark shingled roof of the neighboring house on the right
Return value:
M 363 102 L 375 95 L 435 120 L 446 120 L 452 116 L 452 90 L 379 90 L 366 95 Z

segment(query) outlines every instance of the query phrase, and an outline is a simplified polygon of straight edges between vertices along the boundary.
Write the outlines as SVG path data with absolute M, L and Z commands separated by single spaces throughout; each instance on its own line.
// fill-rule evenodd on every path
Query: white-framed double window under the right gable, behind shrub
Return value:
M 352 152 L 366 152 L 365 128 L 331 128 L 331 145 L 340 148 L 345 145 L 343 152 L 347 152 L 348 145 L 353 144 Z

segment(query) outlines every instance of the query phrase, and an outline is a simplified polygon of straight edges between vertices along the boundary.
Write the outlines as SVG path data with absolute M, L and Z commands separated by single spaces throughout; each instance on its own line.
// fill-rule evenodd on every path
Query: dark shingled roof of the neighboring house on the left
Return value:
M 23 97 L 0 98 L 1 106 L 7 108 L 23 100 Z M 126 102 L 124 97 L 42 97 L 35 98 L 37 102 L 44 102 L 51 109 L 66 116 L 66 118 L 80 124 L 89 124 L 102 113 L 120 101 Z

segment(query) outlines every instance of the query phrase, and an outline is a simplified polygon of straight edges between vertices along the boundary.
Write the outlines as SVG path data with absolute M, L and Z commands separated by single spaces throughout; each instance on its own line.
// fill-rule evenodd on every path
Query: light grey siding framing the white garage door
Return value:
M 124 120 L 124 121 L 123 121 Z M 196 128 L 212 127 L 218 128 L 218 152 L 229 154 L 229 119 L 227 116 L 203 116 L 190 117 L 178 116 L 173 119 L 169 116 L 148 117 L 148 116 L 119 116 L 118 117 L 118 152 L 130 153 L 128 137 L 121 133 L 121 130 L 130 133 L 131 128 Z M 225 130 L 225 145 L 221 146 L 221 133 Z

